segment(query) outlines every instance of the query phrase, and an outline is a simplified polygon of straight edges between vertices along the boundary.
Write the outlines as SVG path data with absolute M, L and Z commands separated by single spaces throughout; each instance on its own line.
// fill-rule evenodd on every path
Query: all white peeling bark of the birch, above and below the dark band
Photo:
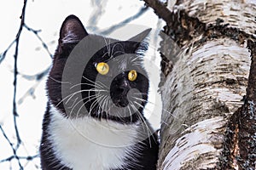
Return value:
M 188 0 L 178 6 L 172 2 L 169 8 L 177 13 L 182 8 L 207 26 L 222 19 L 222 24 L 255 36 L 255 1 Z M 229 118 L 243 104 L 251 60 L 247 41 L 230 37 L 197 45 L 194 42 L 202 36 L 184 42 L 161 88 L 164 111 L 159 169 L 218 166 Z M 237 169 L 236 163 L 233 167 Z

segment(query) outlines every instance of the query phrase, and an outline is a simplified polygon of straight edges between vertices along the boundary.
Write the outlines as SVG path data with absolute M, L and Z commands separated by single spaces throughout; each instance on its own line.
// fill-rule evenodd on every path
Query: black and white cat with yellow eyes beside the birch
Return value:
M 47 81 L 43 170 L 156 169 L 159 144 L 143 116 L 147 34 L 117 41 L 89 35 L 74 15 L 63 22 Z

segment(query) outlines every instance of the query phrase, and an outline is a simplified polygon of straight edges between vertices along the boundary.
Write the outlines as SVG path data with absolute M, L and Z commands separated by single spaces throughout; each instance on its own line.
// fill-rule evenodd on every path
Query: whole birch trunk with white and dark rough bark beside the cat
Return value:
M 162 65 L 159 169 L 256 169 L 256 2 L 144 2 L 182 48 Z

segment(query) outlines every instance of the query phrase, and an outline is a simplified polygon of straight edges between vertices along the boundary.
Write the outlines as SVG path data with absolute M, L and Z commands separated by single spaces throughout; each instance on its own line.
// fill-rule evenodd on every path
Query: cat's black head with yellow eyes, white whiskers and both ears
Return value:
M 49 100 L 64 116 L 92 116 L 117 122 L 143 118 L 148 76 L 143 68 L 143 39 L 127 41 L 90 35 L 74 15 L 64 20 L 49 72 Z

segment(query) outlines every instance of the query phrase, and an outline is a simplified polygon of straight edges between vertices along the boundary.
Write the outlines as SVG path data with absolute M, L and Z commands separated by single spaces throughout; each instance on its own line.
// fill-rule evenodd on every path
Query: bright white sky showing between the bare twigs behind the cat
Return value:
M 96 2 L 96 1 L 95 1 Z M 99 1 L 101 2 L 101 1 Z M 92 7 L 92 5 L 94 5 Z M 87 23 L 94 12 L 94 8 L 99 4 L 92 4 L 90 0 L 28 0 L 26 7 L 26 24 L 35 30 L 41 30 L 39 36 L 47 43 L 49 51 L 54 54 L 56 48 L 56 40 L 58 39 L 59 29 L 62 21 L 68 14 L 76 14 L 87 28 L 95 26 L 88 26 Z M 143 5 L 139 0 L 108 0 L 104 1 L 102 6 L 104 14 L 96 26 L 103 29 L 108 26 L 118 24 L 120 21 L 137 14 L 139 8 Z M 1 0 L 0 3 L 0 53 L 2 53 L 9 44 L 14 41 L 15 35 L 20 26 L 20 14 L 23 1 Z M 132 21 L 132 24 L 148 27 L 157 27 L 160 25 L 158 17 L 155 16 L 152 10 L 143 14 L 139 19 Z M 128 28 L 129 29 L 129 28 Z M 90 32 L 90 29 L 88 30 Z M 132 37 L 136 35 L 135 31 L 130 31 Z M 94 33 L 94 32 L 90 32 Z M 128 31 L 127 31 L 128 34 Z M 118 35 L 118 34 L 116 34 Z M 124 35 L 122 35 L 124 37 Z M 111 37 L 111 36 L 110 36 Z M 118 37 L 118 36 L 116 36 Z M 6 59 L 0 65 L 0 124 L 6 131 L 9 139 L 15 142 L 15 130 L 13 126 L 12 116 L 12 99 L 13 99 L 13 65 L 14 65 L 14 49 L 13 46 Z M 154 49 L 154 48 L 152 48 Z M 22 32 L 20 37 L 18 69 L 22 74 L 34 75 L 40 71 L 44 71 L 51 63 L 49 54 L 44 50 L 38 38 L 29 31 Z M 24 78 L 18 80 L 17 100 L 22 98 L 26 91 L 32 86 L 37 86 L 34 98 L 32 96 L 26 97 L 23 102 L 18 105 L 18 127 L 20 130 L 20 138 L 24 141 L 23 146 L 20 147 L 20 155 L 30 156 L 38 153 L 38 144 L 41 137 L 41 124 L 46 106 L 46 94 L 44 91 L 45 78 L 43 82 L 37 84 L 35 81 L 27 81 Z M 157 87 L 157 81 L 155 82 Z M 156 89 L 155 89 L 156 90 Z M 158 97 L 157 100 L 160 98 Z M 152 118 L 155 120 L 154 127 L 157 127 L 159 117 Z M 12 156 L 12 150 L 0 133 L 0 160 Z M 23 165 L 26 161 L 21 161 Z M 19 169 L 16 161 L 11 162 L 12 169 Z M 39 160 L 36 159 L 26 164 L 25 169 L 37 169 Z M 9 169 L 9 162 L 0 163 L 0 169 Z

